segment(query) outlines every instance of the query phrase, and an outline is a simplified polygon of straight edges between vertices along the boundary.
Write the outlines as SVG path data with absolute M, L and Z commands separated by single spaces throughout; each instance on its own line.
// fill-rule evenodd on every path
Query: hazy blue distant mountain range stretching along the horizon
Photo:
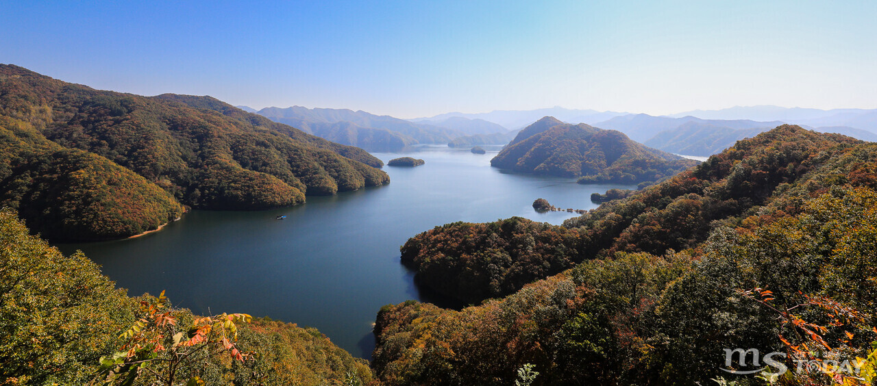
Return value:
M 709 156 L 784 123 L 805 129 L 834 132 L 866 141 L 877 141 L 877 109 L 802 109 L 778 106 L 733 107 L 693 110 L 670 116 L 650 116 L 593 109 L 495 110 L 489 113 L 459 112 L 404 120 L 375 116 L 349 109 L 240 109 L 286 123 L 339 144 L 368 151 L 401 151 L 411 144 L 448 144 L 467 147 L 507 144 L 519 130 L 544 116 L 562 123 L 587 123 L 618 130 L 636 141 L 661 151 Z

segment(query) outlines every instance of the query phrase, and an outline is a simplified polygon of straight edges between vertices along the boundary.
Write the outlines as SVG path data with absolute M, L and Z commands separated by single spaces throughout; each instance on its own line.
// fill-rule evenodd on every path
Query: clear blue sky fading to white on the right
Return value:
M 184 4 L 183 4 L 184 3 Z M 0 2 L 0 63 L 399 117 L 877 108 L 877 2 Z

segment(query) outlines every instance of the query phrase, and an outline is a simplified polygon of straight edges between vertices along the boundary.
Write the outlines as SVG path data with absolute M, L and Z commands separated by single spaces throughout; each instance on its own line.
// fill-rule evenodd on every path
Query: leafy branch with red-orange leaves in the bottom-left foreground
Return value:
M 101 358 L 93 383 L 125 386 L 141 377 L 168 386 L 179 379 L 187 379 L 187 386 L 199 385 L 204 383 L 199 369 L 210 359 L 227 354 L 232 361 L 246 361 L 250 355 L 235 344 L 238 324 L 253 319 L 246 313 L 192 318 L 189 312 L 172 309 L 164 291 L 158 298 L 142 300 L 139 311 L 143 316 L 119 335 L 126 340 L 121 350 Z

